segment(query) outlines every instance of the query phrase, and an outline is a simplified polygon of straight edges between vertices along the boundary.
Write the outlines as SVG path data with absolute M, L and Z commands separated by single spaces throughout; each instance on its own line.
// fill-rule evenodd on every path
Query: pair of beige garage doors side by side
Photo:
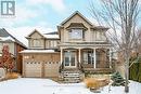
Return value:
M 60 62 L 28 62 L 25 63 L 25 77 L 57 77 Z

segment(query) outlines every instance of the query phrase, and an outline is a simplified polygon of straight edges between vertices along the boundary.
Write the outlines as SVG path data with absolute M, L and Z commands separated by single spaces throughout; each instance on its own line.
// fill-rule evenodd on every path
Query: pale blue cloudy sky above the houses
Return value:
M 1 0 L 0 0 L 1 1 Z M 5 28 L 10 33 L 27 45 L 25 37 L 34 29 L 41 32 L 56 31 L 64 19 L 75 11 L 79 11 L 91 23 L 97 24 L 90 15 L 90 0 L 14 0 L 15 16 L 3 17 L 0 15 L 0 28 Z M 93 0 L 100 8 L 100 0 Z

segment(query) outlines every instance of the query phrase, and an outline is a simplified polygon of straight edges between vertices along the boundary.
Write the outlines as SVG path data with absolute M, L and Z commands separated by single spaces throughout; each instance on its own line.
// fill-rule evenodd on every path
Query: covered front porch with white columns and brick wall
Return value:
M 105 72 L 112 70 L 110 48 L 61 49 L 62 69 Z

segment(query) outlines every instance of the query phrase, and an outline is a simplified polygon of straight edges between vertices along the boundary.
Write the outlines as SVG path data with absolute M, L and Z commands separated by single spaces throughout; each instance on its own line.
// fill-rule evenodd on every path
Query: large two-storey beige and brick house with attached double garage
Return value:
M 37 30 L 33 31 L 26 37 L 31 50 L 21 52 L 24 55 L 23 64 L 33 65 L 24 66 L 24 77 L 51 77 L 51 75 L 44 76 L 49 71 L 57 72 L 54 76 L 59 77 L 59 70 L 61 73 L 111 72 L 112 44 L 105 36 L 107 30 L 106 27 L 93 25 L 76 11 L 57 26 L 57 32 L 44 35 Z M 41 53 L 42 56 L 35 57 Z M 34 76 L 35 72 L 38 72 L 38 76 L 37 73 Z

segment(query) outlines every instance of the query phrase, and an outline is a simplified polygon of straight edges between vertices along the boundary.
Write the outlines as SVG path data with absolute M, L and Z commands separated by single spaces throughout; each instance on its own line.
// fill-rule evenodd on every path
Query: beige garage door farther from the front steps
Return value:
M 25 63 L 25 77 L 41 77 L 41 63 L 40 62 Z

